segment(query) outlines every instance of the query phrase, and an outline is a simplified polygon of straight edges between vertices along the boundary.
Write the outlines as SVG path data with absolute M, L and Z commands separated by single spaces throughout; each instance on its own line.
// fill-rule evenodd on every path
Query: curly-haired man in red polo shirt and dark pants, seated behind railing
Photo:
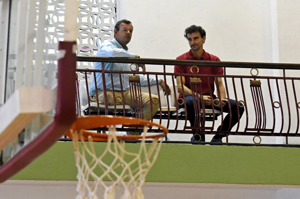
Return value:
M 184 36 L 188 40 L 191 50 L 189 50 L 187 53 L 178 56 L 176 59 L 196 60 L 196 61 L 220 61 L 220 59 L 217 56 L 209 54 L 203 49 L 203 44 L 206 39 L 206 32 L 201 26 L 192 25 L 188 27 L 187 29 L 185 29 Z M 208 77 L 208 75 L 223 75 L 223 72 L 224 71 L 222 67 L 195 67 L 195 66 L 180 66 L 180 65 L 179 66 L 176 65 L 174 67 L 175 74 L 184 74 L 184 73 L 191 74 L 191 76 L 181 76 L 181 75 L 176 76 L 178 92 L 180 93 L 178 98 L 182 98 L 183 94 L 185 95 L 187 117 L 191 126 L 194 126 L 195 124 L 194 101 L 192 97 L 191 82 L 190 82 L 190 77 L 191 78 L 196 77 L 193 74 L 207 75 L 205 77 L 200 77 L 201 93 L 203 94 L 203 102 L 206 108 L 211 109 L 212 106 L 214 106 L 215 109 L 220 110 L 221 109 L 220 106 L 212 105 L 212 101 L 215 100 L 220 103 L 223 112 L 230 113 L 231 110 L 231 121 L 230 121 L 230 114 L 227 114 L 226 117 L 224 118 L 223 125 L 220 125 L 217 129 L 217 131 L 220 131 L 221 134 L 215 135 L 211 140 L 211 142 L 222 142 L 222 138 L 226 137 L 226 131 L 228 130 L 230 131 L 244 113 L 244 107 L 241 107 L 242 106 L 241 103 L 240 106 L 238 106 L 236 100 L 226 98 L 226 92 L 225 92 L 222 78 L 217 77 L 217 80 L 214 81 L 213 77 Z M 197 78 L 199 78 L 199 76 Z M 216 83 L 217 87 L 219 88 L 218 96 L 214 95 L 214 91 L 215 91 L 214 83 Z M 211 99 L 211 96 L 213 99 Z M 218 103 L 215 102 L 213 104 L 218 104 Z M 180 106 L 184 107 L 184 104 Z

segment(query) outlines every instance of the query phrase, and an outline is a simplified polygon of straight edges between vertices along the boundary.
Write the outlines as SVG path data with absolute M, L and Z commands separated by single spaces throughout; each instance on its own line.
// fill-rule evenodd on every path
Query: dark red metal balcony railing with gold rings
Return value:
M 96 72 L 142 74 L 147 77 L 154 77 L 156 80 L 158 78 L 163 79 L 171 89 L 171 93 L 166 95 L 163 94 L 164 92 L 160 86 L 142 87 L 141 90 L 142 92 L 158 96 L 159 109 L 156 113 L 152 113 L 154 115 L 153 121 L 166 126 L 171 133 L 224 134 L 227 136 L 284 136 L 286 137 L 286 142 L 287 137 L 300 136 L 300 64 L 208 62 L 91 56 L 77 56 L 77 61 L 83 63 L 103 62 L 103 66 L 104 62 L 147 64 L 146 72 L 104 71 L 78 68 L 79 83 L 77 84 L 77 89 L 81 91 L 78 92 L 77 100 L 77 112 L 79 116 L 93 114 L 136 116 L 138 107 L 132 107 L 120 101 L 114 104 L 105 103 L 108 102 L 106 94 L 104 94 L 104 101 L 100 101 L 99 103 L 97 95 L 93 97 L 89 96 L 89 89 L 92 77 Z M 84 64 L 81 63 L 81 65 Z M 185 109 L 185 97 L 178 98 L 174 65 L 224 68 L 224 75 L 222 76 L 204 76 L 201 74 L 192 74 L 192 76 L 208 79 L 223 78 L 226 98 L 235 100 L 245 110 L 241 119 L 238 119 L 237 124 L 230 131 L 217 130 L 219 125 L 223 125 L 223 119 L 227 114 L 229 114 L 230 119 L 232 118 L 231 110 L 229 113 L 225 113 L 221 107 L 216 108 L 217 104 L 201 109 L 197 113 L 195 112 L 197 122 L 192 125 L 190 124 Z M 181 74 L 181 76 L 188 77 L 191 74 Z M 123 92 L 121 91 L 122 95 Z M 214 94 L 218 92 L 219 88 L 216 85 Z M 210 95 L 213 96 L 213 93 L 210 93 Z M 118 101 L 115 96 L 113 97 L 115 101 Z M 156 129 L 151 129 L 151 131 L 156 132 Z

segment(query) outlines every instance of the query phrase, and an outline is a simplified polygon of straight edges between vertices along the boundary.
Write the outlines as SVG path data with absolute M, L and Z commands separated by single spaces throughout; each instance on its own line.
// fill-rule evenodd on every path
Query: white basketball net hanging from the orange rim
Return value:
M 115 128 L 109 128 L 109 136 L 104 151 L 94 148 L 93 138 L 88 142 L 78 141 L 82 131 L 73 131 L 74 153 L 78 169 L 76 199 L 115 199 L 115 188 L 123 189 L 121 199 L 143 199 L 141 187 L 145 176 L 156 161 L 163 137 L 145 143 L 145 135 L 138 152 L 125 149 L 125 142 L 117 140 Z M 144 127 L 147 132 L 147 127 Z M 97 196 L 98 193 L 101 197 Z M 120 194 L 119 194 L 120 195 Z

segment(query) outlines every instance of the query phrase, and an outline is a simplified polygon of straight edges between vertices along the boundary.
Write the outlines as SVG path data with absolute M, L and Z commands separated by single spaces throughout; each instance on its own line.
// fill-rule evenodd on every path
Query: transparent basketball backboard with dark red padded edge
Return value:
M 0 5 L 5 24 L 0 32 L 8 32 L 0 67 L 3 182 L 46 151 L 76 119 L 76 38 L 65 32 L 74 35 L 66 30 L 69 25 L 77 35 L 78 5 L 69 0 L 1 0 Z

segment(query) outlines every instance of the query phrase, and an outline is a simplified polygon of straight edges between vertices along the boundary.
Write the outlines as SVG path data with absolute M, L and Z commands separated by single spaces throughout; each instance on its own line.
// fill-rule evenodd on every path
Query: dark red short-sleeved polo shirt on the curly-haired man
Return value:
M 203 55 L 201 59 L 196 58 L 191 50 L 189 50 L 187 53 L 184 53 L 180 56 L 178 56 L 176 59 L 179 60 L 196 60 L 196 61 L 220 61 L 220 59 L 217 56 L 214 56 L 212 54 L 207 53 L 205 50 L 203 50 Z M 199 71 L 197 74 L 211 74 L 211 75 L 223 75 L 224 70 L 222 67 L 208 67 L 208 66 L 198 66 Z M 193 71 L 196 72 L 197 68 L 193 68 Z M 191 66 L 177 66 L 174 67 L 174 74 L 184 74 L 184 73 L 191 73 Z M 185 86 L 187 86 L 189 89 L 191 89 L 190 84 L 190 77 L 195 76 L 185 76 Z M 208 84 L 210 84 L 211 92 L 214 93 L 215 91 L 215 85 L 214 85 L 214 78 L 209 78 L 209 82 L 207 80 L 207 77 L 200 77 L 201 78 L 201 87 L 202 92 L 204 95 L 210 95 Z M 179 98 L 182 97 L 182 94 L 179 94 Z

